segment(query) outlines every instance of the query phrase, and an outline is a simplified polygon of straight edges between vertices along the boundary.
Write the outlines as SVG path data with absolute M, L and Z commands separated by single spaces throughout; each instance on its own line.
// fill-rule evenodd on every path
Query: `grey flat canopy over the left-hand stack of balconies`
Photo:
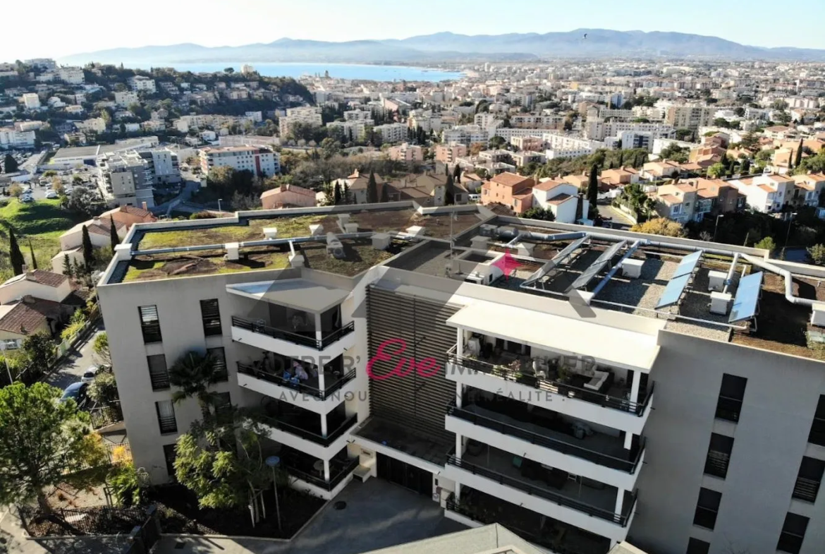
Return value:
M 226 291 L 253 300 L 285 305 L 295 310 L 322 313 L 347 299 L 349 291 L 319 285 L 307 279 L 278 279 L 276 281 L 238 283 L 227 285 Z

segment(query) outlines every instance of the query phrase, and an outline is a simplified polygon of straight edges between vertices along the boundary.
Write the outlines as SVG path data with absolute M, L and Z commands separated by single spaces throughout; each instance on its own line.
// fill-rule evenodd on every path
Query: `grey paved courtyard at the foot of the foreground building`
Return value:
M 338 501 L 347 503 L 337 510 Z M 283 509 L 283 508 L 282 508 Z M 289 507 L 286 507 L 289 509 Z M 291 543 L 254 539 L 172 538 L 157 554 L 358 554 L 461 531 L 436 502 L 387 481 L 353 481 Z M 182 542 L 183 548 L 176 548 Z M 179 545 L 178 545 L 179 546 Z

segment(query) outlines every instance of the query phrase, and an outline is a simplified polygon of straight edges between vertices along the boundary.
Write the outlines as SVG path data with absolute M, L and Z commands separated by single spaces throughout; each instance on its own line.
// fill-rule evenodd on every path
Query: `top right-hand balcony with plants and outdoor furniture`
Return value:
M 639 401 L 633 402 L 629 400 L 629 387 L 616 384 L 610 368 L 600 367 L 599 371 L 606 376 L 596 379 L 599 382 L 594 385 L 593 377 L 573 373 L 554 361 L 537 372 L 529 359 L 511 353 L 493 355 L 484 361 L 458 356 L 454 347 L 447 353 L 447 361 L 447 378 L 453 381 L 625 432 L 641 434 L 650 414 L 653 385 L 640 390 Z M 562 401 L 554 402 L 554 397 Z

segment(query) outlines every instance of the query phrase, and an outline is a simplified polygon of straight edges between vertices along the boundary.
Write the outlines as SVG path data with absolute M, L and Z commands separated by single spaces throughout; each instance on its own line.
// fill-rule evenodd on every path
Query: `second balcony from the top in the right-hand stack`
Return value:
M 446 429 L 479 443 L 495 444 L 548 466 L 632 490 L 644 456 L 644 439 L 625 449 L 618 436 L 592 431 L 549 410 L 512 400 L 447 408 Z M 455 419 L 454 419 L 455 418 Z M 470 425 L 468 425 L 470 424 Z

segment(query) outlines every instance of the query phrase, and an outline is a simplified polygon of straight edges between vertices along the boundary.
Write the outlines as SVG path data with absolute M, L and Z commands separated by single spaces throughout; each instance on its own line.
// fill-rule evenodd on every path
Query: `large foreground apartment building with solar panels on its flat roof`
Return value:
M 799 316 L 823 335 L 825 305 L 792 286 L 815 289 L 821 268 L 466 206 L 249 213 L 224 220 L 232 272 L 141 269 L 176 264 L 139 234 L 195 247 L 220 230 L 134 225 L 97 286 L 134 463 L 153 482 L 201 417 L 194 399 L 172 404 L 167 372 L 196 351 L 225 368 L 222 401 L 267 415 L 263 446 L 290 485 L 323 499 L 392 481 L 470 527 L 517 522 L 547 552 L 606 554 L 627 537 L 661 554 L 822 552 L 825 366 L 776 333 Z M 297 229 L 306 215 L 361 236 Z M 436 238 L 447 220 L 459 244 Z M 244 266 L 242 236 L 295 239 L 290 267 Z

